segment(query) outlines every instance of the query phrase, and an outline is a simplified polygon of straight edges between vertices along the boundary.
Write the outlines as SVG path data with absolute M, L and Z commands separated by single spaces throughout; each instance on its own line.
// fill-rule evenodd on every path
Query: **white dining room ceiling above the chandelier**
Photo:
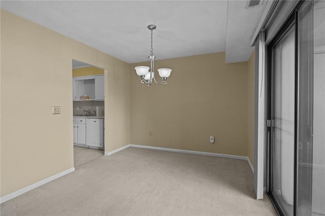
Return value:
M 1 1 L 1 8 L 128 63 L 226 52 L 247 61 L 262 16 L 247 1 Z

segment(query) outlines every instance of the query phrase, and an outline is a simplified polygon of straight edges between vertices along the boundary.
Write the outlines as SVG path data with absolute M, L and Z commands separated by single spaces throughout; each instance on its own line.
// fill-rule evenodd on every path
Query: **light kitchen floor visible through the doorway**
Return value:
M 104 150 L 74 146 L 74 166 L 80 166 L 104 155 Z

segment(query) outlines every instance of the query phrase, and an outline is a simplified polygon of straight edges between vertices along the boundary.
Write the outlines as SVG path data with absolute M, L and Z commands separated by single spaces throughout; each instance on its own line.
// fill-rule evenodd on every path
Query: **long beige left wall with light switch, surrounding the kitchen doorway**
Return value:
M 106 69 L 105 151 L 130 142 L 129 64 L 5 10 L 1 54 L 1 196 L 74 166 L 72 59 Z

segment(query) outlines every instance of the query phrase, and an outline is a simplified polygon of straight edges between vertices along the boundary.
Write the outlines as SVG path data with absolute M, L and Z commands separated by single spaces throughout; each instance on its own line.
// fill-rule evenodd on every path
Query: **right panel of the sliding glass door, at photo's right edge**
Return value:
M 325 2 L 298 12 L 297 215 L 325 215 Z

